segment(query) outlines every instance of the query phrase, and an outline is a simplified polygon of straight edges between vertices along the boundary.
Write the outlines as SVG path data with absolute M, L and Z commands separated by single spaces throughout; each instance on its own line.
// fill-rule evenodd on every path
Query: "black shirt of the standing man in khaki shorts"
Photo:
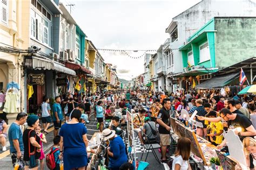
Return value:
M 167 126 L 170 126 L 170 110 L 166 110 L 165 107 L 159 110 L 157 118 L 161 119 Z M 159 125 L 160 134 L 170 134 L 163 126 Z

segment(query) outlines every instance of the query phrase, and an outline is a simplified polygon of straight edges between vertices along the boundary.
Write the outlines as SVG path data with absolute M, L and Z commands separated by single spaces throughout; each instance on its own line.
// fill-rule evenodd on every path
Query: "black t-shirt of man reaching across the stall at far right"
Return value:
M 252 125 L 252 122 L 248 117 L 242 114 L 237 114 L 234 120 L 227 121 L 227 126 L 230 129 L 235 129 L 241 127 L 242 132 L 246 132 L 246 128 Z M 244 139 L 245 137 L 241 137 L 240 139 Z

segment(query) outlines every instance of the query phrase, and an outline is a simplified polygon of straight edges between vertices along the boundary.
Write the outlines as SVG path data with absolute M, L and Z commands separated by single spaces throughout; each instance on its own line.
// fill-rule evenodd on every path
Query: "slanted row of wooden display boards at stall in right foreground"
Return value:
M 197 163 L 197 167 L 199 169 L 218 169 L 218 166 L 216 168 L 216 166 L 213 164 L 213 160 L 216 160 L 217 158 L 219 158 L 220 165 L 224 170 L 235 169 L 235 166 L 244 166 L 244 160 L 241 161 L 242 157 L 237 158 L 231 154 L 233 153 L 232 148 L 236 147 L 239 144 L 238 142 L 230 142 L 235 146 L 228 147 L 229 149 L 231 148 L 231 153 L 228 155 L 218 151 L 217 148 L 209 141 L 197 136 L 191 127 L 185 126 L 176 118 L 171 117 L 171 126 L 172 140 L 176 141 L 176 143 L 179 137 L 186 137 L 191 140 L 191 158 Z M 241 153 L 243 153 L 242 150 Z

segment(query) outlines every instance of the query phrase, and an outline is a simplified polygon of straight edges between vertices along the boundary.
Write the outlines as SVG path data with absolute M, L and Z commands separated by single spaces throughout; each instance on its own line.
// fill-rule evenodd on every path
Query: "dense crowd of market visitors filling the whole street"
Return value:
M 104 91 L 95 94 L 67 94 L 55 97 L 50 106 L 45 97 L 42 112 L 38 115 L 17 115 L 10 125 L 8 133 L 6 124 L 0 121 L 0 143 L 5 148 L 5 138 L 10 141 L 10 152 L 14 167 L 25 169 L 43 169 L 45 160 L 53 158 L 51 169 L 86 169 L 90 165 L 90 155 L 97 150 L 88 148 L 90 141 L 86 137 L 86 124 L 98 123 L 98 129 L 104 144 L 106 143 L 106 166 L 110 169 L 133 169 L 127 157 L 126 137 L 127 111 L 133 116 L 133 129 L 142 146 L 159 143 L 161 162 L 168 164 L 171 141 L 170 116 L 176 117 L 188 126 L 186 119 L 180 116 L 186 110 L 191 116 L 197 111 L 196 121 L 203 127 L 196 128 L 197 135 L 210 141 L 217 148 L 228 152 L 223 132 L 233 129 L 244 145 L 248 168 L 254 168 L 256 156 L 256 97 L 225 96 L 218 90 L 183 91 L 168 94 L 166 91 L 153 93 L 150 90 Z M 117 111 L 119 110 L 119 111 Z M 91 116 L 95 115 L 95 119 Z M 39 117 L 42 125 L 39 124 Z M 54 124 L 53 147 L 45 155 L 43 143 L 47 143 L 45 134 L 49 133 L 50 123 Z M 26 124 L 24 130 L 21 125 Z M 177 143 L 172 169 L 188 169 L 191 141 L 180 138 Z

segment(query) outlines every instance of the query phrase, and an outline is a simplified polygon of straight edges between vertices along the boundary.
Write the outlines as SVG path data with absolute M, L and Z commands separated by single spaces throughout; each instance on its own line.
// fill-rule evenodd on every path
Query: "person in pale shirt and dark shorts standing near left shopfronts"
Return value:
M 48 128 L 50 126 L 51 121 L 51 108 L 49 104 L 49 98 L 44 99 L 44 103 L 42 104 L 42 123 L 44 127 L 44 132 L 48 133 Z

